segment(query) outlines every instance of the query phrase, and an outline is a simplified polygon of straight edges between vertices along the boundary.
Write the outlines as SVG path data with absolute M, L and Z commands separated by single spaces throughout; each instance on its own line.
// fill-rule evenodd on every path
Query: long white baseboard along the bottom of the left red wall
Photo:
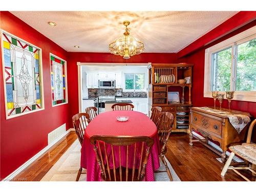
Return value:
M 56 144 L 60 139 L 65 137 L 69 132 L 75 131 L 74 128 L 69 129 L 62 135 L 60 135 L 55 141 L 53 141 L 51 144 L 47 145 L 45 148 L 43 148 L 40 152 L 38 152 L 36 155 L 34 155 L 32 158 L 30 158 L 27 162 L 25 162 L 23 165 L 19 166 L 14 172 L 12 172 L 10 175 L 8 175 L 6 178 L 4 178 L 2 181 L 11 181 L 16 175 L 18 175 L 20 172 L 22 172 L 25 168 L 27 168 L 30 164 L 32 164 L 36 159 L 38 159 L 42 154 L 47 152 L 54 144 Z

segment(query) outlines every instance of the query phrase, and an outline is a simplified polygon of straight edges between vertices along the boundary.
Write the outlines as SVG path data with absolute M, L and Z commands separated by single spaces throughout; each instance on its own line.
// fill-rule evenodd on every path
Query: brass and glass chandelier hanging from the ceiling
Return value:
M 123 56 L 124 59 L 129 59 L 135 54 L 140 54 L 144 51 L 144 44 L 137 38 L 130 35 L 130 30 L 127 28 L 130 22 L 125 20 L 125 32 L 123 36 L 118 37 L 109 45 L 109 51 L 115 55 Z

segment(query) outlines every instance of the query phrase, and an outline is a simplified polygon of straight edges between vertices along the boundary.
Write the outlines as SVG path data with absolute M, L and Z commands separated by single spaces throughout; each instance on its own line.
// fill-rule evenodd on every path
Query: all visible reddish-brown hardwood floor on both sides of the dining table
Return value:
M 76 139 L 75 132 L 70 132 L 14 180 L 26 178 L 26 181 L 40 181 Z M 198 142 L 194 142 L 194 146 L 189 146 L 188 135 L 185 133 L 171 134 L 167 148 L 166 158 L 181 181 L 244 181 L 232 170 L 228 170 L 226 176 L 221 177 L 224 164 L 216 159 L 219 156 Z M 243 174 L 255 181 L 250 172 L 243 170 Z

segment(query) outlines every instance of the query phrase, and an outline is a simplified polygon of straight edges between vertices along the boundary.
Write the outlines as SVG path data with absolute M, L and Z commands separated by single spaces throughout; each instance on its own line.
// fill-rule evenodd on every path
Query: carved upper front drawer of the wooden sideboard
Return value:
M 197 127 L 200 127 L 205 131 L 221 136 L 222 122 L 217 119 L 192 112 L 191 123 L 198 125 Z

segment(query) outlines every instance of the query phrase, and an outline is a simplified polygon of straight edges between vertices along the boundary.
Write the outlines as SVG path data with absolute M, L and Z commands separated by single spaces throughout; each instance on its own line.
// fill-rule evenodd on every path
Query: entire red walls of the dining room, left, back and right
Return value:
M 194 88 L 193 104 L 197 106 L 212 105 L 211 98 L 203 97 L 203 77 L 204 77 L 204 50 L 205 45 L 212 46 L 234 34 L 244 31 L 251 26 L 255 12 L 239 12 L 231 17 L 221 27 L 207 33 L 198 41 L 193 42 L 178 54 L 176 53 L 142 53 L 135 55 L 131 59 L 122 59 L 110 53 L 68 53 L 53 41 L 34 30 L 22 20 L 9 12 L 0 12 L 0 27 L 42 49 L 42 67 L 44 80 L 45 110 L 31 114 L 15 117 L 6 120 L 4 105 L 4 83 L 2 58 L 0 58 L 0 178 L 5 178 L 16 168 L 29 160 L 47 145 L 47 134 L 56 127 L 67 123 L 67 129 L 72 127 L 71 118 L 78 113 L 78 80 L 77 62 L 153 62 L 153 63 L 175 63 L 189 62 L 195 63 L 194 67 Z M 255 19 L 255 18 L 254 18 Z M 248 24 L 249 23 L 249 24 Z M 245 25 L 246 24 L 246 25 Z M 241 28 L 241 26 L 243 26 Z M 238 29 L 239 28 L 239 29 Z M 231 32 L 232 31 L 232 32 Z M 230 33 L 231 32 L 231 33 Z M 218 37 L 230 33 L 220 39 Z M 216 41 L 216 39 L 218 39 Z M 211 42 L 215 40 L 214 42 Z M 211 42 L 211 43 L 210 43 Z M 210 43 L 210 44 L 209 44 Z M 208 45 L 209 44 L 209 45 Z M 1 51 L 1 49 L 0 49 Z M 52 107 L 51 86 L 50 86 L 50 63 L 49 53 L 53 53 L 67 60 L 68 72 L 68 96 L 69 103 Z M 180 56 L 177 59 L 177 55 Z M 0 54 L 0 57 L 2 54 Z M 224 107 L 227 102 L 224 101 Z M 256 116 L 256 103 L 232 101 L 232 109 L 248 111 Z

